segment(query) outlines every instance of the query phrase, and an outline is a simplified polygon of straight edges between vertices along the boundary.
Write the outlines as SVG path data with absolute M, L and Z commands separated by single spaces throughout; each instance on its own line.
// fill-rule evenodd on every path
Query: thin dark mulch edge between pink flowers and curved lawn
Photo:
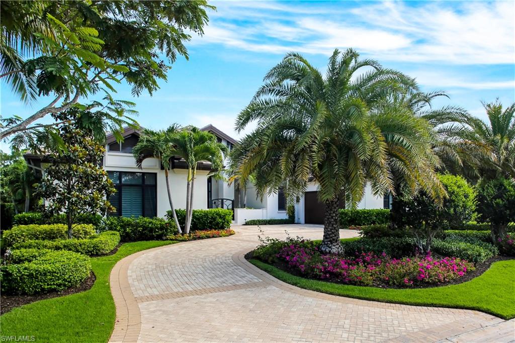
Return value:
M 245 259 L 247 259 L 247 260 L 253 259 L 252 251 L 250 251 L 247 254 L 245 254 Z M 487 261 L 475 265 L 474 271 L 467 272 L 461 278 L 454 279 L 451 282 L 446 282 L 446 283 L 441 283 L 441 284 L 413 285 L 411 287 L 398 287 L 398 286 L 391 286 L 391 285 L 388 285 L 388 284 L 381 284 L 381 285 L 371 285 L 371 286 L 361 286 L 361 287 L 392 288 L 392 289 L 413 289 L 413 288 L 434 288 L 434 287 L 441 287 L 441 286 L 456 285 L 456 284 L 460 284 L 460 283 L 464 283 L 464 282 L 470 281 L 470 280 L 472 280 L 474 278 L 477 278 L 478 276 L 482 275 L 485 271 L 488 270 L 488 268 L 490 268 L 492 263 L 497 262 L 497 261 L 506 261 L 506 260 L 513 260 L 513 256 L 493 256 L 492 258 L 488 259 Z M 323 281 L 323 282 L 332 282 L 332 283 L 337 283 L 337 284 L 341 284 L 341 285 L 351 285 L 351 284 L 341 283 L 341 282 L 332 281 L 332 280 L 319 280 L 319 279 L 314 279 L 314 278 L 308 278 L 308 277 L 302 275 L 296 269 L 291 269 L 288 266 L 288 264 L 285 263 L 285 262 L 278 262 L 278 263 L 274 263 L 274 264 L 271 264 L 271 265 L 276 267 L 276 268 L 278 268 L 278 269 L 286 271 L 287 273 L 290 273 L 291 275 L 295 275 L 295 276 L 298 276 L 298 277 L 301 277 L 301 278 L 304 278 L 304 279 L 315 280 L 315 281 Z

